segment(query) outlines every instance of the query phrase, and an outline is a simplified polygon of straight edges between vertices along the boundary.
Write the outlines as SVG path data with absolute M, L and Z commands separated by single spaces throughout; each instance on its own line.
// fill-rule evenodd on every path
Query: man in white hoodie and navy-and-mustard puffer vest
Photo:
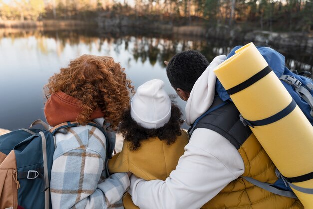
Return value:
M 191 138 L 165 181 L 131 176 L 128 192 L 140 208 L 302 208 L 297 200 L 272 194 L 240 177 L 277 180 L 275 166 L 251 130 L 241 124 L 234 104 L 221 101 L 215 93 L 213 69 L 224 60 L 226 56 L 220 55 L 209 64 L 201 53 L 191 50 L 176 54 L 168 63 L 169 81 L 187 101 Z

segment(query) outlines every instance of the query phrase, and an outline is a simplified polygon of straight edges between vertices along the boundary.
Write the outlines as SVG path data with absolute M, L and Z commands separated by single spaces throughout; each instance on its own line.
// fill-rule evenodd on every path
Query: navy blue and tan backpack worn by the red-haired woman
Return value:
M 45 129 L 33 128 L 36 124 Z M 0 208 L 52 208 L 49 183 L 56 148 L 54 135 L 60 129 L 78 125 L 77 122 L 66 122 L 49 130 L 46 123 L 36 120 L 29 129 L 0 136 Z M 103 127 L 93 122 L 88 125 L 104 133 L 107 158 L 110 158 L 112 150 Z

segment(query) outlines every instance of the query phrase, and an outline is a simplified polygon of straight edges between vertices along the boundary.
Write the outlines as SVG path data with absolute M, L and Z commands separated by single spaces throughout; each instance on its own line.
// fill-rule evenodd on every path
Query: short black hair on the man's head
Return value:
M 200 52 L 188 50 L 177 53 L 168 63 L 167 77 L 174 88 L 191 92 L 196 80 L 209 65 Z

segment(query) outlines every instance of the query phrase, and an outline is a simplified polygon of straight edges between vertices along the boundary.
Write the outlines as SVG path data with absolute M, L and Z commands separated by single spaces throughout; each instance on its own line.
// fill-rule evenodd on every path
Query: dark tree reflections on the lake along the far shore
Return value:
M 135 61 L 145 63 L 148 61 L 152 66 L 159 62 L 163 67 L 164 60 L 170 58 L 177 52 L 194 49 L 204 54 L 210 61 L 216 55 L 228 54 L 236 45 L 243 45 L 246 42 L 233 42 L 227 40 L 211 40 L 195 37 L 173 37 L 171 35 L 120 35 L 108 32 L 99 32 L 90 29 L 79 29 L 70 31 L 26 31 L 26 30 L 4 30 L 0 29 L 0 40 L 9 38 L 36 39 L 37 47 L 42 54 L 48 54 L 51 50 L 61 56 L 66 47 L 85 44 L 89 50 L 93 47 L 98 52 L 110 54 L 113 50 L 117 55 L 121 51 L 132 53 Z M 51 42 L 54 41 L 53 44 Z M 255 43 L 257 45 L 257 43 Z M 131 46 L 131 47 L 130 47 Z M 29 46 L 25 46 L 29 47 Z M 103 47 L 106 47 L 103 49 Z M 286 57 L 286 65 L 291 70 L 312 71 L 313 69 L 313 49 L 301 49 L 291 47 L 271 46 L 281 52 Z

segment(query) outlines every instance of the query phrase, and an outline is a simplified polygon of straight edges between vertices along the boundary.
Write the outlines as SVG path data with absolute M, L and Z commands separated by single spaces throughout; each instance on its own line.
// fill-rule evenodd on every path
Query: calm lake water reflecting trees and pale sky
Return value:
M 175 94 L 166 77 L 164 60 L 183 50 L 199 50 L 208 61 L 246 43 L 207 40 L 172 35 L 112 34 L 105 31 L 0 30 L 0 128 L 15 130 L 43 119 L 45 97 L 42 87 L 48 78 L 83 54 L 106 55 L 120 62 L 136 87 L 151 79 L 165 82 L 165 90 Z M 256 43 L 257 44 L 257 43 Z M 312 53 L 301 49 L 279 49 L 287 65 L 300 71 L 313 66 Z M 177 99 L 182 109 L 185 102 Z M 186 128 L 186 125 L 184 125 Z

